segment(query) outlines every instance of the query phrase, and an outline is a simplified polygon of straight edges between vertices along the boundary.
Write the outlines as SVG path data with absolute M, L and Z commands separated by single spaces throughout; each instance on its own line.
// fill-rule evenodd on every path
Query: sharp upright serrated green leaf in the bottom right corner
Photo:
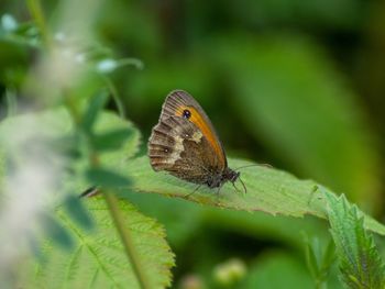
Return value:
M 350 288 L 385 288 L 385 267 L 364 216 L 342 194 L 326 193 L 331 235 L 342 279 Z

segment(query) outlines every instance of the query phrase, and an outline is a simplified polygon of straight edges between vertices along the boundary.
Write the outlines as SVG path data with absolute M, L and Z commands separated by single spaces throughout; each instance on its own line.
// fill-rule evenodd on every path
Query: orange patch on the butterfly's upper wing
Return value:
M 221 164 L 226 164 L 224 155 L 222 152 L 222 147 L 217 141 L 216 134 L 211 131 L 208 123 L 205 121 L 205 119 L 200 115 L 199 111 L 197 111 L 195 108 L 191 107 L 179 107 L 176 111 L 176 115 L 182 116 L 184 110 L 189 110 L 191 112 L 191 116 L 188 119 L 190 122 L 193 122 L 195 125 L 197 125 L 200 130 L 200 132 L 205 135 L 211 147 L 213 148 L 215 153 L 217 154 L 218 158 L 220 159 Z

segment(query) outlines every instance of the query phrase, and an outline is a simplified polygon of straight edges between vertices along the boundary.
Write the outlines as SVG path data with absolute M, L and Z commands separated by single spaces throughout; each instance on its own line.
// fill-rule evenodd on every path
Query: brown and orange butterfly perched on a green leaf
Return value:
M 148 157 L 155 171 L 166 170 L 209 188 L 220 188 L 227 181 L 234 184 L 240 177 L 239 171 L 228 167 L 224 149 L 209 118 L 183 90 L 167 96 L 148 140 Z

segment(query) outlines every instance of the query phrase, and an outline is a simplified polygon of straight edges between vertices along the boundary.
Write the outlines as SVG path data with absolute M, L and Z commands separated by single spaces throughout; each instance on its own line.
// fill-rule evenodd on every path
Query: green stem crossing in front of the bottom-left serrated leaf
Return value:
M 143 289 L 150 289 L 147 279 L 145 278 L 144 268 L 141 266 L 140 259 L 136 255 L 135 246 L 132 241 L 130 230 L 125 230 L 127 224 L 123 223 L 122 214 L 118 207 L 118 199 L 111 192 L 105 191 L 103 193 L 107 205 L 110 210 L 113 223 L 119 232 L 120 238 L 122 240 L 125 254 L 129 256 L 134 273 L 138 277 L 138 281 Z

